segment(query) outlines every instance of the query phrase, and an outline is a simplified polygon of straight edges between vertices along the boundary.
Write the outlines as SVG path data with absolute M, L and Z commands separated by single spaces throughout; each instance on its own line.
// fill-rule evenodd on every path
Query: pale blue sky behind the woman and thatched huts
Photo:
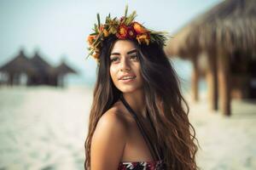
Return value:
M 96 13 L 102 19 L 109 13 L 119 18 L 124 14 L 125 5 L 128 5 L 128 14 L 136 10 L 136 20 L 143 26 L 155 31 L 168 31 L 172 35 L 189 20 L 220 2 L 0 0 L 0 66 L 13 59 L 23 48 L 27 57 L 38 51 L 51 65 L 58 65 L 64 59 L 79 72 L 78 76 L 68 77 L 71 82 L 92 84 L 96 79 L 96 61 L 91 57 L 86 59 L 86 39 L 96 23 Z M 189 67 L 186 63 L 184 65 Z M 176 67 L 180 71 L 179 66 Z

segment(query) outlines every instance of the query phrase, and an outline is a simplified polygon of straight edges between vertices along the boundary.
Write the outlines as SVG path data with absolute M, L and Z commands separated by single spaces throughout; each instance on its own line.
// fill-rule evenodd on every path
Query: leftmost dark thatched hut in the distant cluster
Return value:
M 38 74 L 37 68 L 26 58 L 23 49 L 20 49 L 20 53 L 14 59 L 2 65 L 0 72 L 7 75 L 9 85 L 20 84 L 21 77 L 29 81 L 30 77 Z

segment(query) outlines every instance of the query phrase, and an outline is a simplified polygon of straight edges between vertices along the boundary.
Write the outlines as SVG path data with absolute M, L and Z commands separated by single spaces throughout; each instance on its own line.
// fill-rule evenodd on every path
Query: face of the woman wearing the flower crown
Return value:
M 131 93 L 143 87 L 141 65 L 137 49 L 129 40 L 118 40 L 110 54 L 110 76 L 122 93 Z

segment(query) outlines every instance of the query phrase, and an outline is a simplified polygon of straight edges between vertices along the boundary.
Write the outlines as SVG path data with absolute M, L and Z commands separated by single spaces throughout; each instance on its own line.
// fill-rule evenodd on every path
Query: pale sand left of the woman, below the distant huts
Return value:
M 91 92 L 0 88 L 0 169 L 83 169 Z

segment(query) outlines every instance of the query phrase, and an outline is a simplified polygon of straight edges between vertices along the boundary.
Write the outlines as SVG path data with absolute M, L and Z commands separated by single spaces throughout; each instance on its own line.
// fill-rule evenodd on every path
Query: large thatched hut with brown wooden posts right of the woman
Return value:
M 256 1 L 226 0 L 177 31 L 166 46 L 168 56 L 191 59 L 194 98 L 198 98 L 199 55 L 207 56 L 207 78 L 212 108 L 218 109 L 218 83 L 222 111 L 230 115 L 230 58 L 236 51 L 256 54 Z M 249 54 L 249 55 L 248 55 Z M 218 81 L 217 81 L 218 79 Z

